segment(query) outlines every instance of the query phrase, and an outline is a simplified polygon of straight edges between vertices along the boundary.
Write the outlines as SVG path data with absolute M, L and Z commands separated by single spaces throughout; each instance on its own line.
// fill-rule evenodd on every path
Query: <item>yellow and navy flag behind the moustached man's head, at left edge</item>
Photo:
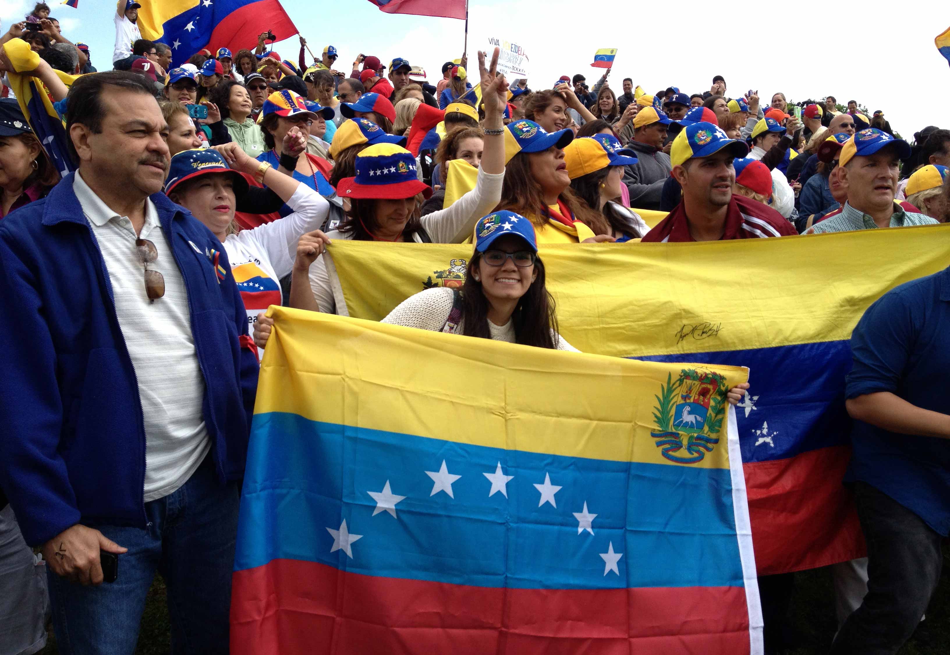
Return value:
M 22 39 L 11 39 L 4 45 L 4 51 L 10 58 L 14 70 L 33 70 L 40 61 L 40 56 L 33 52 L 28 43 Z M 71 86 L 76 80 L 75 76 L 67 75 L 62 71 L 56 70 L 55 73 L 66 87 Z M 29 75 L 10 72 L 7 76 L 20 110 L 60 175 L 66 175 L 75 170 L 76 164 L 69 156 L 66 141 L 68 138 L 66 122 L 53 107 L 46 87 Z

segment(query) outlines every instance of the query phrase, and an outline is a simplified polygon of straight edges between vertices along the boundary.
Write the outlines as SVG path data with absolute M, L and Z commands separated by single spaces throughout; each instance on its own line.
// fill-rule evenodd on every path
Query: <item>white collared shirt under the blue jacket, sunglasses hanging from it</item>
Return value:
M 188 294 L 155 204 L 145 201 L 145 223 L 136 236 L 132 222 L 109 209 L 79 172 L 72 188 L 103 254 L 119 327 L 139 382 L 147 503 L 187 482 L 211 448 L 201 408 L 204 378 L 191 334 Z M 136 239 L 152 241 L 159 253 L 148 268 L 161 273 L 165 295 L 154 302 L 145 294 L 145 268 Z

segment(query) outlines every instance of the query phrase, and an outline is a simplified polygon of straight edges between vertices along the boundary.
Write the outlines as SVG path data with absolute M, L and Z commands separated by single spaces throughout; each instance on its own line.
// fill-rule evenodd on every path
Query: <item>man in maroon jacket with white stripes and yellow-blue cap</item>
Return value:
M 749 148 L 712 123 L 689 125 L 670 150 L 671 175 L 683 199 L 643 238 L 648 241 L 719 241 L 797 235 L 781 214 L 732 193 L 732 160 Z

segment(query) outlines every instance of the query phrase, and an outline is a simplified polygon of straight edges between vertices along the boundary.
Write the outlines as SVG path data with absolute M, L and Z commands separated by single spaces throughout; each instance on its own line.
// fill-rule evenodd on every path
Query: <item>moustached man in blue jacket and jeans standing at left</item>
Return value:
M 79 170 L 0 222 L 0 487 L 47 560 L 61 648 L 134 652 L 158 569 L 176 652 L 227 653 L 247 316 L 224 248 L 161 193 L 145 78 L 94 73 L 68 99 Z

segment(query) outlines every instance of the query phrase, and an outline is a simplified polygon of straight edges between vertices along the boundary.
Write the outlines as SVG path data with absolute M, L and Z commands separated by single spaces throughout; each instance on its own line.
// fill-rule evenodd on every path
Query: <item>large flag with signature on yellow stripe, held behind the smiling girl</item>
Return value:
M 580 350 L 750 368 L 737 425 L 755 561 L 768 574 L 864 554 L 841 484 L 850 452 L 848 338 L 885 291 L 946 267 L 948 230 L 542 246 L 541 254 L 561 334 Z M 353 317 L 385 317 L 451 279 L 452 260 L 471 254 L 461 244 L 374 245 L 330 248 L 336 306 Z

